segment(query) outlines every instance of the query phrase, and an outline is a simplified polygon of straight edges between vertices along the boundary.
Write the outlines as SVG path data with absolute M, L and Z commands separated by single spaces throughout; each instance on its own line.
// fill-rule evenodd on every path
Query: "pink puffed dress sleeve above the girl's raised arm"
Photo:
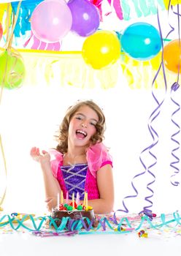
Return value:
M 58 165 L 59 162 L 63 161 L 63 154 L 55 149 L 50 149 L 48 153 L 50 154 L 50 165 L 52 168 L 53 176 L 57 178 Z

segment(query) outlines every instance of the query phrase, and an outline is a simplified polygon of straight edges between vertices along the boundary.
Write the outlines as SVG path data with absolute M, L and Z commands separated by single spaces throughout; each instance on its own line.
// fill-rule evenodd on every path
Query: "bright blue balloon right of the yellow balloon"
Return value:
M 152 59 L 161 50 L 161 37 L 157 29 L 148 23 L 128 26 L 120 38 L 123 51 L 133 59 Z

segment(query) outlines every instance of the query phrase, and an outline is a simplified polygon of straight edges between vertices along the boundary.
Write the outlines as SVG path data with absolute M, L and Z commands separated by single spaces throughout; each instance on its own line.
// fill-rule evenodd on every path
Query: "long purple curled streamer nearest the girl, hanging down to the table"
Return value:
M 159 15 L 158 15 L 158 28 L 159 28 L 159 34 L 161 37 L 161 48 L 163 49 L 163 38 L 162 38 L 162 31 L 161 31 L 161 24 L 159 22 Z M 134 195 L 127 195 L 126 197 L 123 198 L 123 209 L 118 209 L 118 211 L 123 211 L 128 213 L 128 207 L 126 206 L 125 201 L 130 199 L 130 198 L 135 198 L 138 197 L 139 195 L 139 189 L 136 188 L 134 181 L 136 178 L 139 178 L 140 176 L 144 176 L 146 173 L 149 174 L 151 180 L 147 183 L 146 187 L 147 187 L 147 192 L 148 195 L 145 196 L 145 201 L 146 201 L 146 206 L 143 206 L 141 213 L 145 213 L 151 212 L 151 208 L 153 207 L 153 196 L 154 196 L 154 190 L 152 188 L 152 185 L 155 183 L 155 173 L 154 173 L 154 167 L 157 165 L 158 159 L 157 156 L 155 155 L 155 153 L 153 152 L 153 148 L 158 144 L 159 141 L 159 135 L 158 132 L 156 131 L 155 127 L 153 127 L 153 122 L 156 120 L 156 118 L 158 118 L 158 116 L 161 113 L 161 106 L 163 105 L 163 102 L 165 100 L 165 95 L 163 95 L 163 99 L 158 100 L 158 98 L 156 97 L 155 93 L 154 93 L 154 84 L 155 84 L 155 80 L 158 77 L 159 72 L 163 72 L 163 82 L 164 82 L 164 89 L 165 89 L 165 94 L 167 91 L 167 81 L 166 81 L 166 74 L 165 74 L 165 69 L 164 69 L 164 65 L 163 65 L 163 55 L 161 57 L 161 63 L 159 64 L 158 70 L 155 74 L 155 77 L 153 78 L 153 82 L 152 82 L 152 95 L 153 95 L 153 99 L 156 103 L 156 107 L 155 109 L 152 111 L 152 113 L 150 114 L 149 120 L 148 120 L 148 130 L 150 132 L 151 138 L 153 139 L 153 142 L 150 143 L 149 146 L 146 146 L 146 148 L 144 148 L 140 155 L 139 155 L 139 160 L 142 164 L 142 167 L 144 170 L 142 170 L 140 173 L 137 173 L 134 178 L 132 178 L 131 181 L 131 187 L 134 189 Z M 152 157 L 152 162 L 149 164 L 145 163 L 145 159 L 143 159 L 143 154 L 147 153 L 148 156 Z M 115 213 L 116 214 L 116 213 Z

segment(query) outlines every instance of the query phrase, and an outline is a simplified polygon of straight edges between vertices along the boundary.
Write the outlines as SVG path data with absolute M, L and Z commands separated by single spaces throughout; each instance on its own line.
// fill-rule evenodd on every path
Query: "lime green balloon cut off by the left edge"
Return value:
M 15 89 L 22 85 L 25 78 L 23 60 L 12 51 L 5 50 L 0 55 L 0 86 Z

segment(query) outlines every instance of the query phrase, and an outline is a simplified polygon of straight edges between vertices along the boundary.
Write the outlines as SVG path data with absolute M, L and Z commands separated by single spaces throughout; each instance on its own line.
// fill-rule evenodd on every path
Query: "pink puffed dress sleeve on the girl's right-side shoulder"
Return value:
M 112 166 L 112 157 L 103 143 L 90 146 L 87 151 L 87 160 L 90 173 L 96 177 L 96 171 L 104 165 Z

